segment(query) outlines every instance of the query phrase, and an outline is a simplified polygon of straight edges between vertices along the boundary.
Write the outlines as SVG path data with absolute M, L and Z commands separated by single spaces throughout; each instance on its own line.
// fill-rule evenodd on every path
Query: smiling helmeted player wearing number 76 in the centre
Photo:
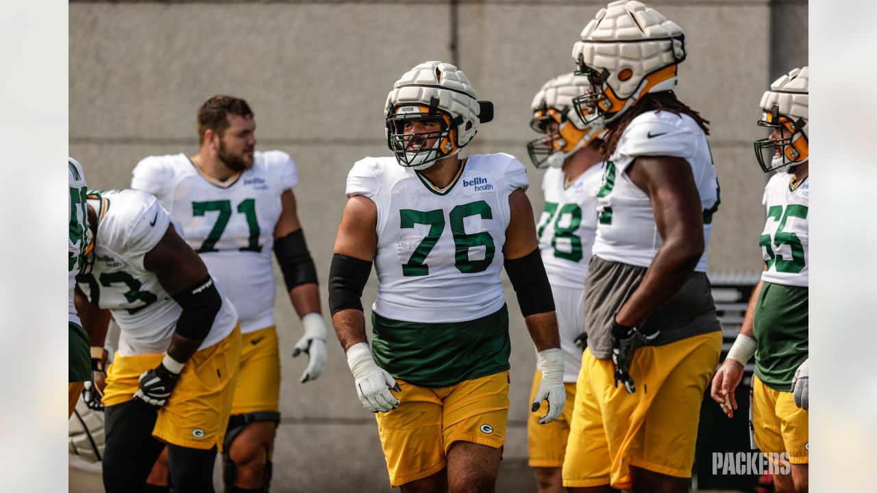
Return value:
M 440 61 L 396 81 L 384 108 L 395 159 L 353 165 L 335 239 L 332 322 L 403 492 L 494 489 L 509 410 L 503 266 L 538 349 L 533 411 L 548 401 L 539 422 L 558 418 L 566 399 L 524 165 L 509 154 L 459 155 L 493 118 L 476 97 Z M 373 261 L 369 349 L 360 297 Z

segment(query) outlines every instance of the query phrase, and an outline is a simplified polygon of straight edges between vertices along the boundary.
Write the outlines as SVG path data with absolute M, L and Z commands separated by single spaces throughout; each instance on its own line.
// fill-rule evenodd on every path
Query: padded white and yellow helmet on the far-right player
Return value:
M 793 68 L 761 96 L 764 113 L 758 125 L 774 129 L 772 132 L 780 131 L 779 139 L 768 137 L 755 141 L 755 157 L 765 173 L 786 171 L 809 159 L 809 75 L 809 67 Z

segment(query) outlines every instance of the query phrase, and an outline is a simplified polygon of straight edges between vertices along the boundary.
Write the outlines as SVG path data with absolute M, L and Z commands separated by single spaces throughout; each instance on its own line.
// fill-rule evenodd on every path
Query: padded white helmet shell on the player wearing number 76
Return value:
M 390 117 L 399 105 L 429 106 L 433 100 L 438 100 L 439 110 L 446 111 L 456 124 L 455 152 L 459 152 L 460 147 L 466 146 L 474 137 L 481 123 L 477 97 L 462 70 L 450 63 L 426 61 L 411 68 L 393 84 L 384 106 L 384 117 Z

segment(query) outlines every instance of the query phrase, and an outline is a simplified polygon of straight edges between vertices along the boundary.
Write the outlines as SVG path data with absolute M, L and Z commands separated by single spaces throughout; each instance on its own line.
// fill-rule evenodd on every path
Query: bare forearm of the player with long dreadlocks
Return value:
M 702 248 L 691 247 L 690 242 L 684 240 L 664 243 L 645 271 L 643 281 L 618 311 L 617 322 L 629 327 L 645 322 L 645 318 L 685 285 L 701 255 Z

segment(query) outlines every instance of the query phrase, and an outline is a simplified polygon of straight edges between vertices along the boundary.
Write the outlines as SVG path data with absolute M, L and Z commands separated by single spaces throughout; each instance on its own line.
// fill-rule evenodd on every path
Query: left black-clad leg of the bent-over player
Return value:
M 143 490 L 146 476 L 164 447 L 152 436 L 156 418 L 153 407 L 139 399 L 106 406 L 103 488 L 107 493 Z

